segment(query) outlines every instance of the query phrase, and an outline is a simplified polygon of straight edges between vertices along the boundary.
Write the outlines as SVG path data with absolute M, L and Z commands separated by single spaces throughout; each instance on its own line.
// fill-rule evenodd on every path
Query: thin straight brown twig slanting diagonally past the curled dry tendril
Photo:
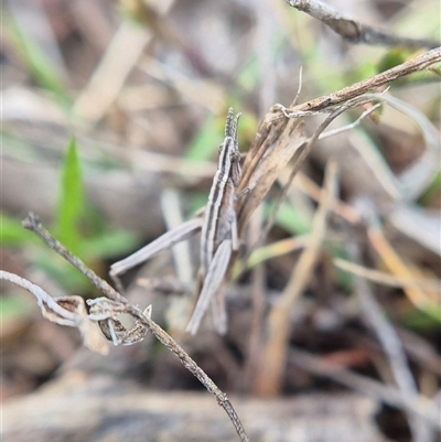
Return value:
M 217 403 L 226 411 L 232 420 L 240 441 L 249 441 L 245 429 L 237 416 L 228 397 L 222 392 L 216 384 L 201 369 L 197 364 L 189 356 L 189 354 L 157 323 L 149 319 L 137 306 L 132 305 L 126 298 L 111 288 L 105 280 L 99 278 L 93 270 L 88 269 L 80 259 L 74 257 L 64 246 L 51 236 L 51 234 L 43 228 L 37 217 L 34 214 L 29 214 L 28 218 L 23 220 L 23 226 L 35 233 L 42 238 L 53 250 L 62 256 L 67 262 L 79 270 L 99 291 L 107 298 L 123 305 L 123 311 L 139 321 L 146 328 L 148 328 L 158 341 L 169 348 L 182 363 L 182 365 L 193 374 L 205 388 L 216 398 Z

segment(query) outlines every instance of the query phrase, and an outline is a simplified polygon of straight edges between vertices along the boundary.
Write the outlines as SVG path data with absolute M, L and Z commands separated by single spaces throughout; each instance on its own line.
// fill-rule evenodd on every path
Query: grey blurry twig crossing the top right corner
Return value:
M 410 48 L 435 47 L 440 43 L 427 39 L 409 39 L 405 36 L 391 35 L 376 30 L 373 26 L 359 23 L 358 21 L 342 17 L 333 8 L 318 0 L 286 0 L 286 2 L 320 20 L 334 32 L 342 35 L 351 43 L 367 43 L 380 46 L 406 46 Z

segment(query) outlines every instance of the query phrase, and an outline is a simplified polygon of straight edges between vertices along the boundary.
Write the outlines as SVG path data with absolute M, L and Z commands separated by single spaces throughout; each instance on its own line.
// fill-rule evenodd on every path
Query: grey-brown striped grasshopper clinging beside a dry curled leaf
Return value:
M 219 147 L 219 160 L 208 202 L 203 217 L 195 217 L 172 229 L 133 255 L 110 266 L 110 277 L 118 289 L 118 276 L 150 259 L 162 250 L 201 230 L 201 263 L 196 283 L 197 302 L 186 331 L 195 334 L 209 304 L 214 324 L 219 333 L 226 332 L 225 302 L 220 285 L 228 269 L 233 250 L 238 249 L 237 222 L 234 202 L 241 179 L 240 152 L 237 144 L 237 125 L 240 114 L 234 117 L 228 109 L 224 142 Z

